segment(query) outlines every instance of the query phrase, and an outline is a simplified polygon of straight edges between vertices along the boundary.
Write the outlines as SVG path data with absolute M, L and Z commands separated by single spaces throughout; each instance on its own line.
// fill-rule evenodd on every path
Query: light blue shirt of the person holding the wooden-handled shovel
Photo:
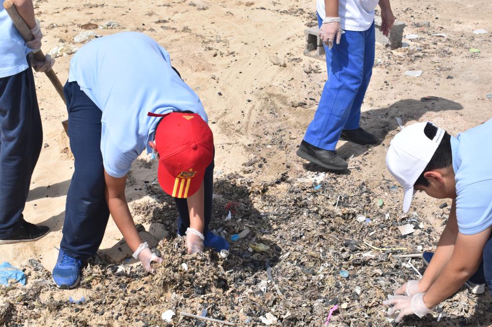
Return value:
M 28 69 L 26 55 L 30 51 L 0 0 L 0 78 Z

